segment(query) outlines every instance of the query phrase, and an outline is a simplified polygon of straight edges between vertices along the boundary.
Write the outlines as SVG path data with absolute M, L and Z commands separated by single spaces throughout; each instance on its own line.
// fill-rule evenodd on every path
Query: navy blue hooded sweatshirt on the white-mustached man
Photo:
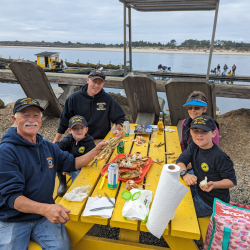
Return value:
M 18 196 L 53 204 L 56 172 L 75 171 L 74 156 L 37 134 L 37 143 L 23 139 L 10 128 L 0 144 L 0 221 L 20 222 L 42 215 L 22 213 L 13 208 Z

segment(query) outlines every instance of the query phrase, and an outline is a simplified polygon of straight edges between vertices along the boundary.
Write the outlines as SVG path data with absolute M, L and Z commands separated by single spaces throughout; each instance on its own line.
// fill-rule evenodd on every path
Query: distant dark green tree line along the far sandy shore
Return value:
M 87 47 L 87 48 L 119 48 L 123 47 L 123 43 L 116 43 L 116 44 L 105 44 L 105 43 L 81 43 L 81 42 L 24 42 L 24 41 L 0 41 L 0 45 L 2 46 L 38 46 L 38 47 L 72 47 L 72 48 L 78 48 L 78 47 Z M 211 45 L 210 40 L 196 40 L 196 39 L 188 39 L 182 42 L 181 44 L 177 44 L 175 39 L 171 39 L 169 42 L 166 43 L 151 43 L 148 41 L 134 41 L 132 42 L 132 47 L 160 47 L 160 48 L 180 48 L 180 47 L 186 47 L 186 48 L 209 48 Z M 127 44 L 128 46 L 128 44 Z M 250 43 L 244 43 L 244 42 L 235 42 L 235 41 L 226 41 L 226 40 L 216 40 L 214 42 L 215 48 L 235 48 L 235 49 L 250 49 Z

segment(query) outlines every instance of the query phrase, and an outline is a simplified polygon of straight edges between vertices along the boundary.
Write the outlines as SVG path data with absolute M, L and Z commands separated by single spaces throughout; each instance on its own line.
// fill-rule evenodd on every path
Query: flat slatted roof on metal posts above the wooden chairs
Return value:
M 119 0 L 137 11 L 215 10 L 219 0 Z

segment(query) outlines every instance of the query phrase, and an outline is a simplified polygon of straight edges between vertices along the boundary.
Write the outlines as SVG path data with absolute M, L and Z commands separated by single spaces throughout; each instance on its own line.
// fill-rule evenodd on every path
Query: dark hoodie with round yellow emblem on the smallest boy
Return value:
M 61 141 L 56 142 L 56 145 L 63 151 L 68 151 L 74 157 L 79 157 L 91 151 L 95 148 L 94 138 L 89 134 L 86 134 L 85 137 L 76 142 L 72 134 L 68 134 Z

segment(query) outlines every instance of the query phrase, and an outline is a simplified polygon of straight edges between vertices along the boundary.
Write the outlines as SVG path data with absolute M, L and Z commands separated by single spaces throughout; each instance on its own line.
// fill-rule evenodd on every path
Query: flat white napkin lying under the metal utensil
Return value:
M 110 199 L 115 203 L 115 198 Z M 98 211 L 89 211 L 90 209 L 94 208 L 110 206 L 112 206 L 112 203 L 107 199 L 107 197 L 89 197 L 82 216 L 101 216 L 103 218 L 110 218 L 114 211 L 114 208 L 102 209 Z

